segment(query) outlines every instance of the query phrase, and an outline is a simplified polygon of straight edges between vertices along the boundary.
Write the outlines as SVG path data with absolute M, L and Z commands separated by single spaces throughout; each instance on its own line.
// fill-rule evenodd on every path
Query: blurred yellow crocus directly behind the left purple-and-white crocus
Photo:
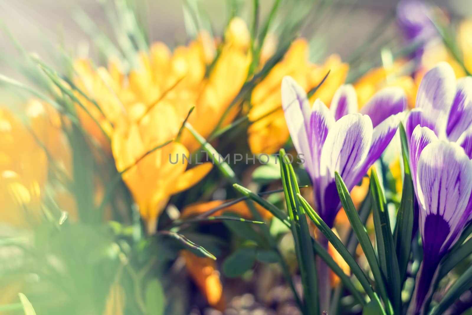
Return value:
M 291 76 L 305 91 L 320 84 L 329 70 L 329 76 L 312 95 L 311 101 L 320 98 L 329 104 L 336 89 L 346 79 L 349 67 L 336 55 L 330 56 L 324 65 L 315 65 L 308 60 L 308 43 L 297 39 L 290 46 L 284 59 L 269 72 L 251 95 L 252 108 L 249 120 L 248 142 L 253 153 L 275 153 L 288 140 L 288 129 L 282 111 L 280 85 L 283 77 Z

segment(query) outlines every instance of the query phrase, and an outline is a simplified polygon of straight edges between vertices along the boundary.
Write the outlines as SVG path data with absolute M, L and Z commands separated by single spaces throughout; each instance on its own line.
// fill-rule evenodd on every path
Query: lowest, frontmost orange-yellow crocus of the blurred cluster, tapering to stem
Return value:
M 188 161 L 183 155 L 188 157 L 189 151 L 177 142 L 154 150 L 140 160 L 148 151 L 175 138 L 183 123 L 170 103 L 145 112 L 146 106 L 135 105 L 128 113 L 129 120 L 117 122 L 111 147 L 118 171 L 135 165 L 123 174 L 123 180 L 139 206 L 148 231 L 153 232 L 170 196 L 199 182 L 212 164 L 207 162 L 186 170 Z

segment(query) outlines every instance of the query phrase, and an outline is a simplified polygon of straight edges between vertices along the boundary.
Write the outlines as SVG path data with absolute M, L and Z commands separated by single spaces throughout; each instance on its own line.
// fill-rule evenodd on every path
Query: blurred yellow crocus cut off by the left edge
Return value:
M 41 218 L 48 159 L 24 124 L 0 109 L 0 220 L 28 227 Z

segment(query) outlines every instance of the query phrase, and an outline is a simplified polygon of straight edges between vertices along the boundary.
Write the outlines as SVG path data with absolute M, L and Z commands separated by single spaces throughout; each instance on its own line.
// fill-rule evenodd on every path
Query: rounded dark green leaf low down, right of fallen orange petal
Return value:
M 228 278 L 240 277 L 253 268 L 257 258 L 255 247 L 242 247 L 234 251 L 223 262 L 222 269 Z

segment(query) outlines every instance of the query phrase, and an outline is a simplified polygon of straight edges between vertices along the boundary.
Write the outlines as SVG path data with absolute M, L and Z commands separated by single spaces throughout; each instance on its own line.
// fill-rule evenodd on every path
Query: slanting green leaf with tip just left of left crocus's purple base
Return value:
M 308 214 L 308 217 L 313 221 L 318 229 L 324 234 L 326 238 L 328 238 L 329 242 L 333 245 L 333 247 L 337 250 L 339 255 L 343 257 L 346 261 L 346 264 L 349 265 L 351 271 L 357 277 L 359 282 L 362 285 L 362 288 L 365 290 L 369 298 L 374 301 L 379 308 L 382 310 L 382 314 L 386 314 L 383 306 L 380 302 L 379 296 L 377 293 L 374 292 L 372 289 L 371 283 L 367 279 L 367 276 L 362 271 L 361 267 L 355 261 L 354 257 L 349 253 L 347 248 L 344 246 L 343 242 L 334 234 L 334 232 L 329 228 L 329 226 L 320 218 L 318 213 L 316 213 L 313 208 L 308 204 L 308 202 L 302 197 L 302 195 L 297 194 L 298 200 L 303 206 L 305 213 Z

